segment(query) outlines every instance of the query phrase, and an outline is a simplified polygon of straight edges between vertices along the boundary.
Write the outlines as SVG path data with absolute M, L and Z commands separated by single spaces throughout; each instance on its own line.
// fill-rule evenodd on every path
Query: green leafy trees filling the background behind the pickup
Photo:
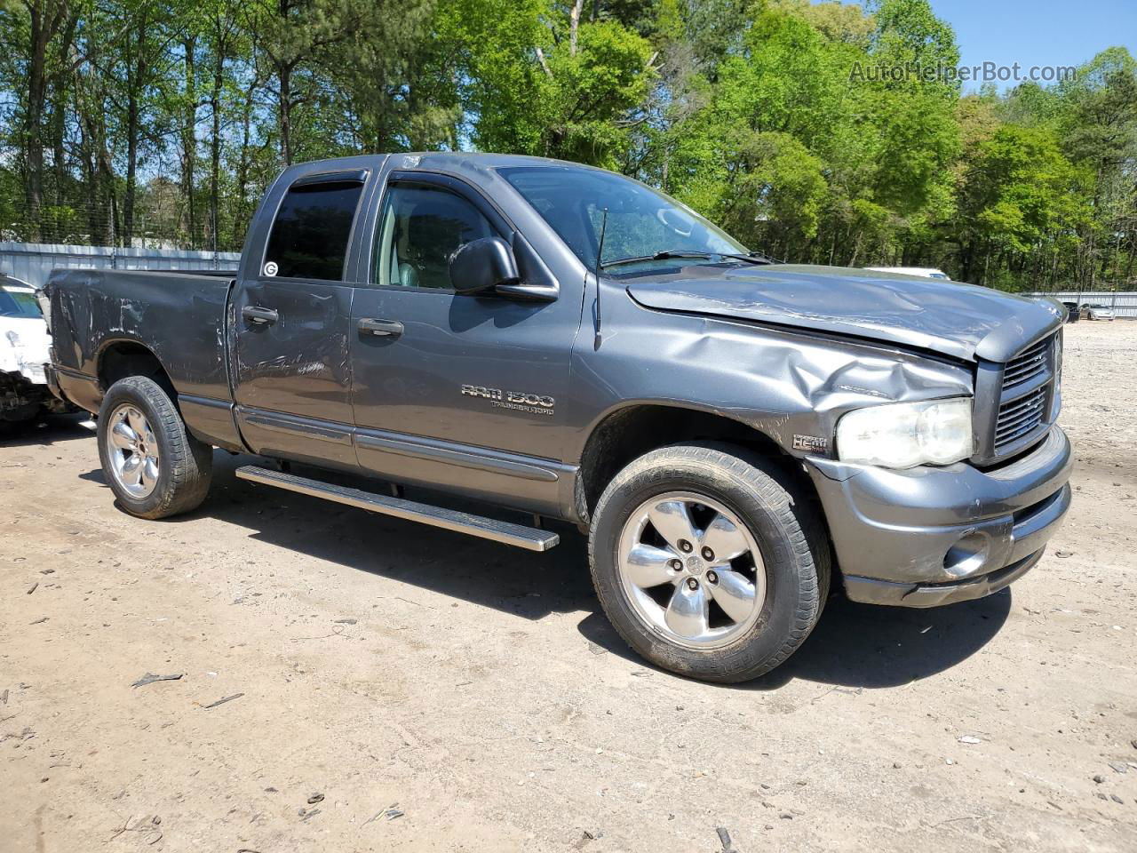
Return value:
M 5 238 L 235 249 L 290 162 L 479 149 L 788 260 L 1137 287 L 1137 63 L 962 96 L 929 0 L 0 0 L 0 43 Z

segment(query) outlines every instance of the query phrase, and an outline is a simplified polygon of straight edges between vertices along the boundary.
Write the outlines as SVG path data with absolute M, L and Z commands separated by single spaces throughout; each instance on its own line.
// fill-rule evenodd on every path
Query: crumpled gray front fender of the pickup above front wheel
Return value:
M 607 323 L 614 331 L 603 346 L 573 354 L 582 397 L 573 413 L 599 413 L 574 424 L 578 453 L 608 415 L 642 404 L 698 408 L 752 426 L 792 456 L 832 457 L 846 412 L 973 392 L 970 366 L 941 356 L 745 321 L 661 315 L 623 293 L 613 303 Z

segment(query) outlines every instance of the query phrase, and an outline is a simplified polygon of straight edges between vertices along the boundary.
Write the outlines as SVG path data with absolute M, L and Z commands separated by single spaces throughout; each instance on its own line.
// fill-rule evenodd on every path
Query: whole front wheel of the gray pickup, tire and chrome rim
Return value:
M 731 684 L 771 671 L 813 630 L 829 593 L 828 538 L 811 503 L 778 461 L 733 445 L 675 445 L 640 456 L 608 483 L 592 515 L 589 561 L 604 612 L 628 645 L 671 672 Z M 680 505 L 686 510 L 677 513 Z M 688 552 L 682 539 L 672 544 L 674 529 L 659 532 L 677 519 L 696 536 Z M 720 554 L 704 550 L 720 543 Z M 746 553 L 722 562 L 744 544 Z M 656 550 L 671 557 L 666 573 Z M 665 582 L 639 586 L 640 566 L 646 583 Z

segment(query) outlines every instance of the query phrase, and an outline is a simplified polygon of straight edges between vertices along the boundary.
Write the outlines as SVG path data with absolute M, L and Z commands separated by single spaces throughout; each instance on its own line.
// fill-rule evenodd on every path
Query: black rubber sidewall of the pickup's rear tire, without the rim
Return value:
M 173 498 L 173 465 L 171 463 L 174 458 L 174 445 L 166 428 L 168 413 L 159 411 L 159 400 L 173 408 L 169 397 L 157 382 L 146 376 L 130 376 L 115 382 L 99 406 L 98 439 L 102 474 L 110 490 L 115 492 L 115 498 L 133 515 L 149 515 L 158 512 L 167 506 Z M 123 489 L 118 485 L 110 464 L 107 446 L 110 415 L 122 405 L 138 408 L 146 416 L 150 424 L 150 431 L 153 432 L 153 437 L 158 441 L 158 481 L 155 483 L 153 491 L 144 498 L 134 497 Z

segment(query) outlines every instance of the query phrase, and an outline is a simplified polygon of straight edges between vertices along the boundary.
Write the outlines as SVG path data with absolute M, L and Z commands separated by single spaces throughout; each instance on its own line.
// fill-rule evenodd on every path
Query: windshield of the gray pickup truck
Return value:
M 601 265 L 625 258 L 658 263 L 650 256 L 664 251 L 747 254 L 746 247 L 690 208 L 624 175 L 574 166 L 498 171 L 589 268 L 596 266 L 605 208 Z

